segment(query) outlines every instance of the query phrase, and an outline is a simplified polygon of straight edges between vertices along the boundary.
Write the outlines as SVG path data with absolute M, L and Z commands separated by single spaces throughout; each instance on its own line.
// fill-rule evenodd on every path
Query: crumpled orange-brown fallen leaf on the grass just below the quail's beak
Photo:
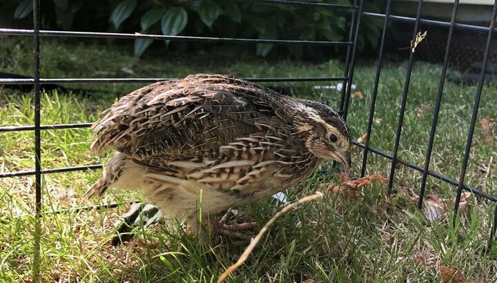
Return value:
M 349 173 L 340 173 L 340 184 L 329 184 L 328 189 L 332 193 L 342 193 L 346 197 L 354 199 L 357 197 L 357 189 L 364 186 L 369 186 L 373 182 L 382 182 L 387 184 L 388 179 L 382 175 L 368 175 L 359 179 L 351 180 Z

